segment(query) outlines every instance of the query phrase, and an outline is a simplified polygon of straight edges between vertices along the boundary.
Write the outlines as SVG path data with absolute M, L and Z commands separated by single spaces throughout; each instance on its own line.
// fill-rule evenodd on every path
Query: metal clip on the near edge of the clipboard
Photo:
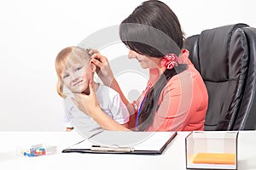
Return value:
M 119 147 L 118 145 L 104 146 L 104 145 L 92 145 L 90 148 L 94 152 L 119 152 L 119 153 L 128 153 L 133 152 L 134 148 L 132 147 Z

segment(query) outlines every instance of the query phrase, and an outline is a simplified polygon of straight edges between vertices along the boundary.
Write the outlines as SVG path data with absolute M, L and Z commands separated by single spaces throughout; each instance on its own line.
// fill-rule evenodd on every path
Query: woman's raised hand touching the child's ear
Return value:
M 94 53 L 91 56 L 91 62 L 96 65 L 96 73 L 101 78 L 102 82 L 110 87 L 113 82 L 113 71 L 110 68 L 108 59 L 99 53 Z

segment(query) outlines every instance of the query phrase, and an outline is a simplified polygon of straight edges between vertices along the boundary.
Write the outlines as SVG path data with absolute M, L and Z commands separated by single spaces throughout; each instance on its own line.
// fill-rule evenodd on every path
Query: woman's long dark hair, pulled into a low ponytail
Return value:
M 180 54 L 183 47 L 183 31 L 176 14 L 165 3 L 149 0 L 122 21 L 119 26 L 122 42 L 138 54 L 148 57 L 163 58 L 166 54 Z M 138 130 L 144 131 L 152 124 L 158 110 L 158 100 L 166 83 L 186 69 L 186 65 L 177 65 L 160 75 L 146 96 L 139 116 Z

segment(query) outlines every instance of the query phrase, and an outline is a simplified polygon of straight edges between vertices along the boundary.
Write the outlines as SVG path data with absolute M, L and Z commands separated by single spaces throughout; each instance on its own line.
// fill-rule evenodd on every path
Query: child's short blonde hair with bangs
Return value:
M 62 73 L 63 71 L 70 67 L 70 65 L 81 63 L 86 60 L 90 60 L 90 49 L 80 48 L 78 46 L 71 46 L 63 48 L 55 59 L 55 71 L 57 73 L 58 81 L 56 84 L 57 93 L 62 97 L 66 98 L 66 95 L 63 94 L 63 82 L 62 82 Z

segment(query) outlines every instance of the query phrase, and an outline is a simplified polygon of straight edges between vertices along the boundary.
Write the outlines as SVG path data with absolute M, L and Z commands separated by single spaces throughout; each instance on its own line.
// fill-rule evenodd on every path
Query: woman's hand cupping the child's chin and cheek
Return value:
M 96 99 L 95 84 L 93 81 L 89 82 L 90 94 L 74 94 L 73 102 L 78 106 L 80 111 L 92 116 L 96 109 L 100 108 L 100 105 Z

